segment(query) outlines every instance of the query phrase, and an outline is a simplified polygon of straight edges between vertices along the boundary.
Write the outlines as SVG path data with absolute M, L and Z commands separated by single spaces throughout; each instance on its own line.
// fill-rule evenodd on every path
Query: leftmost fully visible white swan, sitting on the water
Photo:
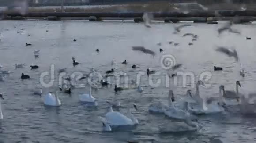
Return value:
M 45 95 L 45 97 L 43 97 L 43 101 L 45 105 L 48 106 L 60 106 L 60 99 L 58 97 L 58 92 L 56 92 L 56 94 L 52 94 L 52 93 L 48 93 Z

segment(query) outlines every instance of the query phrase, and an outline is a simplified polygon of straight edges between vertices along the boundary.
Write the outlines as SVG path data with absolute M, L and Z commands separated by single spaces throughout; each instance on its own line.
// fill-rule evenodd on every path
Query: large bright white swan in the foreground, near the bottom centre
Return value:
M 137 110 L 136 105 L 133 107 Z M 123 125 L 136 125 L 138 124 L 138 120 L 131 113 L 131 108 L 128 109 L 128 116 L 130 118 L 124 116 L 120 112 L 113 111 L 112 107 L 107 107 L 107 114 L 105 121 L 110 124 L 110 126 L 123 126 Z M 103 118 L 104 119 L 104 118 Z

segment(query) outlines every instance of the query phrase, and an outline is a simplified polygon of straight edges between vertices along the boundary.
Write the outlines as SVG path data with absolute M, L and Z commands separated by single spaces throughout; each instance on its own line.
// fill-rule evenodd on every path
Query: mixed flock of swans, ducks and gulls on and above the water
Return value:
M 148 23 L 146 24 L 146 27 L 150 27 Z M 174 27 L 175 33 L 181 32 L 181 29 L 187 26 L 193 26 L 192 24 L 185 24 L 178 27 Z M 218 33 L 221 34 L 224 31 L 232 32 L 236 34 L 240 34 L 235 29 L 231 28 L 232 22 L 228 22 L 224 27 L 218 29 Z M 47 31 L 46 31 L 47 32 Z M 184 36 L 191 36 L 192 41 L 196 41 L 199 36 L 192 34 L 192 33 L 186 33 Z M 247 40 L 250 40 L 250 37 L 246 37 Z M 77 40 L 74 39 L 74 42 Z M 179 43 L 175 43 L 173 41 L 170 41 L 169 44 L 174 44 L 177 46 Z M 188 43 L 188 45 L 192 45 L 193 43 Z M 161 46 L 161 43 L 157 44 L 158 46 Z M 30 43 L 26 43 L 26 46 L 32 46 Z M 143 52 L 145 54 L 150 54 L 151 56 L 155 56 L 156 52 L 150 49 L 146 49 L 143 46 L 133 46 L 132 50 Z M 95 50 L 96 52 L 100 52 L 99 49 Z M 162 52 L 163 49 L 159 49 L 159 52 Z M 216 49 L 217 52 L 226 54 L 226 56 L 234 57 L 236 61 L 239 61 L 238 54 L 236 50 L 230 50 L 226 47 L 218 47 Z M 34 51 L 34 56 L 39 57 L 39 50 Z M 121 64 L 127 64 L 127 60 L 124 60 L 121 62 Z M 75 61 L 75 57 L 72 57 L 72 64 L 73 66 L 78 66 L 80 63 Z M 116 64 L 115 60 L 111 61 L 111 64 Z M 15 68 L 24 68 L 25 64 L 15 64 Z M 182 64 L 176 64 L 172 67 L 173 70 L 180 68 Z M 3 70 L 3 65 L 0 64 L 0 81 L 5 81 L 5 76 L 7 74 L 10 74 L 10 71 Z M 38 69 L 38 65 L 31 65 L 31 70 Z M 131 68 L 138 68 L 135 64 L 132 65 Z M 214 71 L 222 71 L 223 68 L 214 66 Z M 60 69 L 59 72 L 64 72 L 65 69 Z M 93 70 L 90 72 L 93 74 L 95 71 Z M 149 68 L 145 71 L 147 75 L 154 74 L 156 71 L 150 70 Z M 106 71 L 106 77 L 111 76 L 115 73 L 115 69 L 112 68 L 109 71 Z M 240 71 L 241 76 L 245 76 L 245 70 L 242 69 Z M 176 74 L 169 75 L 170 77 L 177 76 Z M 89 77 L 89 75 L 86 75 L 82 77 L 80 80 L 86 79 Z M 21 75 L 22 80 L 30 79 L 30 75 L 25 75 L 22 73 Z M 71 94 L 72 93 L 72 85 L 69 83 L 72 79 L 69 77 L 64 78 L 64 82 L 62 85 L 59 85 L 58 90 L 56 93 L 47 93 L 44 96 L 41 96 L 43 94 L 43 91 L 41 88 L 38 88 L 34 91 L 34 94 L 38 94 L 42 97 L 43 103 L 47 106 L 61 106 L 61 101 L 58 97 L 58 92 L 64 92 Z M 111 83 L 106 82 L 104 80 L 97 81 L 102 86 L 109 86 Z M 212 114 L 212 113 L 221 113 L 227 110 L 228 105 L 226 103 L 226 100 L 237 100 L 239 102 L 239 105 L 241 106 L 242 113 L 255 113 L 255 107 L 256 107 L 256 93 L 250 93 L 245 97 L 244 94 L 239 92 L 239 87 L 241 87 L 240 81 L 236 81 L 236 89 L 235 91 L 232 90 L 226 90 L 224 85 L 219 86 L 219 96 L 218 97 L 203 97 L 200 95 L 200 86 L 205 86 L 203 81 L 199 80 L 196 83 L 196 93 L 192 93 L 191 90 L 188 90 L 186 93 L 186 98 L 183 100 L 182 107 L 176 107 L 173 102 L 177 102 L 176 97 L 174 96 L 173 90 L 169 90 L 169 94 L 167 97 L 167 104 L 165 102 L 156 101 L 150 104 L 148 107 L 148 111 L 150 112 L 157 112 L 160 114 L 165 114 L 169 118 L 180 120 L 183 124 L 178 124 L 179 127 L 177 127 L 177 132 L 181 131 L 195 131 L 199 129 L 199 123 L 198 115 L 200 114 Z M 143 93 L 143 88 L 140 85 L 136 86 L 136 89 Z M 122 90 L 125 90 L 125 88 L 117 87 L 117 85 L 114 85 L 114 91 L 120 92 Z M 0 93 L 0 100 L 4 100 L 3 93 Z M 94 106 L 97 106 L 97 100 L 93 97 L 91 94 L 91 86 L 90 86 L 90 92 L 84 93 L 79 95 L 79 100 L 81 102 L 86 103 L 92 103 Z M 103 129 L 105 131 L 112 131 L 116 126 L 127 126 L 127 125 L 138 125 L 139 120 L 132 114 L 132 109 L 138 110 L 136 104 L 131 104 L 131 106 L 128 107 L 128 115 L 125 116 L 124 114 L 120 113 L 119 111 L 113 111 L 113 108 L 119 108 L 121 106 L 120 101 L 106 101 L 109 106 L 107 107 L 107 113 L 104 117 L 99 117 L 99 119 L 102 121 Z M 1 102 L 0 102 L 1 103 Z M 1 104 L 0 104 L 1 105 Z M 3 119 L 3 114 L 0 106 L 0 119 Z

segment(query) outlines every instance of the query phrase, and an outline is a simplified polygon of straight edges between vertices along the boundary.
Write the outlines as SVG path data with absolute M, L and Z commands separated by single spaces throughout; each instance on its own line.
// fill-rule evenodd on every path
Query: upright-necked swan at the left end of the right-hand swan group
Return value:
M 172 91 L 169 91 L 169 96 L 168 96 L 168 104 L 162 103 L 161 101 L 154 102 L 148 107 L 148 111 L 151 112 L 156 112 L 156 113 L 164 113 L 164 109 L 169 108 L 169 106 L 173 107 L 173 104 L 171 103 L 171 100 L 174 100 L 174 95 Z

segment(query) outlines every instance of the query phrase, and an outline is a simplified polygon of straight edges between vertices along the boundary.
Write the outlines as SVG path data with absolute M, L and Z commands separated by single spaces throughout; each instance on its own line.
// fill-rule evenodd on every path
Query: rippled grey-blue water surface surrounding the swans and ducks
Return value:
M 175 24 L 175 26 L 181 24 Z M 16 26 L 16 28 L 14 28 Z M 173 25 L 154 23 L 151 29 L 143 24 L 133 22 L 106 21 L 0 21 L 0 64 L 3 70 L 10 70 L 6 81 L 0 82 L 4 119 L 0 121 L 0 140 L 4 143 L 125 143 L 127 140 L 154 140 L 155 143 L 252 143 L 256 141 L 255 116 L 241 115 L 238 106 L 229 106 L 222 114 L 203 115 L 199 117 L 201 128 L 197 132 L 160 133 L 158 128 L 171 128 L 175 122 L 164 115 L 150 114 L 149 104 L 154 100 L 166 100 L 168 90 L 173 89 L 177 104 L 184 97 L 187 89 L 195 91 L 193 84 L 182 86 L 182 79 L 175 82 L 169 80 L 166 86 L 166 70 L 161 68 L 160 59 L 165 54 L 172 54 L 176 63 L 182 68 L 176 72 L 193 73 L 196 82 L 200 75 L 209 72 L 211 79 L 205 83 L 209 88 L 201 89 L 206 96 L 218 94 L 218 86 L 223 84 L 226 89 L 234 89 L 234 82 L 240 80 L 244 92 L 253 92 L 256 84 L 256 29 L 254 25 L 234 25 L 241 35 L 223 33 L 218 36 L 219 25 L 195 24 L 186 27 L 180 34 L 173 34 Z M 24 29 L 24 30 L 20 30 Z M 49 32 L 46 32 L 49 30 Z M 19 31 L 19 33 L 17 33 Z M 188 46 L 191 37 L 182 37 L 187 32 L 199 36 L 194 45 Z M 31 36 L 27 36 L 31 34 Z M 246 40 L 246 36 L 252 40 Z M 73 42 L 73 39 L 77 39 Z M 179 46 L 169 45 L 168 41 L 180 43 Z M 162 45 L 158 46 L 157 43 Z M 31 43 L 32 46 L 25 46 Z M 132 51 L 132 46 L 145 46 L 154 50 L 155 57 Z M 245 68 L 245 77 L 239 75 L 240 63 L 232 57 L 215 52 L 216 46 L 229 46 L 237 49 L 240 63 Z M 164 51 L 159 53 L 159 48 Z M 100 53 L 95 50 L 100 49 Z M 39 58 L 35 59 L 34 50 L 40 50 Z M 71 57 L 74 56 L 81 64 L 73 67 Z M 137 73 L 151 68 L 159 75 L 153 76 L 153 82 L 161 79 L 160 85 L 152 88 L 148 77 L 141 76 L 144 92 L 135 89 L 114 93 L 113 86 L 92 90 L 98 101 L 98 107 L 81 104 L 78 95 L 88 93 L 89 86 L 75 88 L 72 95 L 60 93 L 61 107 L 45 107 L 39 96 L 32 95 L 35 86 L 41 86 L 39 76 L 49 72 L 50 65 L 55 66 L 54 86 L 44 87 L 43 92 L 55 91 L 58 84 L 60 68 L 67 68 L 68 74 L 82 72 L 88 74 L 90 68 L 105 75 L 110 70 L 111 60 L 117 72 L 127 71 L 129 80 L 136 80 Z M 126 59 L 127 65 L 120 64 Z M 24 68 L 15 69 L 14 64 L 25 63 Z M 39 69 L 30 70 L 30 65 L 37 64 Z M 139 68 L 133 70 L 132 64 Z M 213 66 L 223 67 L 223 72 L 214 72 Z M 31 80 L 20 79 L 21 73 L 30 75 Z M 49 79 L 49 77 L 48 77 Z M 46 81 L 48 81 L 45 78 Z M 124 86 L 123 79 L 120 86 Z M 111 82 L 115 80 L 111 79 Z M 83 83 L 83 82 L 79 82 Z M 177 83 L 177 84 L 176 84 Z M 151 84 L 152 85 L 152 84 Z M 117 129 L 113 132 L 102 132 L 102 123 L 98 116 L 105 116 L 106 100 L 117 99 L 124 106 L 120 112 L 126 114 L 127 106 L 137 104 L 138 111 L 132 113 L 139 120 L 133 129 Z M 149 142 L 150 143 L 150 142 Z

